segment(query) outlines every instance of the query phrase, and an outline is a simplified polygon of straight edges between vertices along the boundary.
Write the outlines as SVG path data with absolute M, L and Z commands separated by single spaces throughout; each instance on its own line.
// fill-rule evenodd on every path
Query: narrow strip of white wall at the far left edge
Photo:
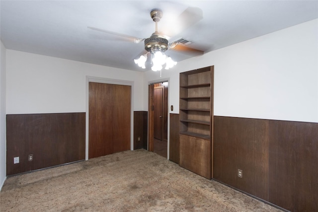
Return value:
M 6 176 L 5 47 L 0 42 L 0 190 Z

